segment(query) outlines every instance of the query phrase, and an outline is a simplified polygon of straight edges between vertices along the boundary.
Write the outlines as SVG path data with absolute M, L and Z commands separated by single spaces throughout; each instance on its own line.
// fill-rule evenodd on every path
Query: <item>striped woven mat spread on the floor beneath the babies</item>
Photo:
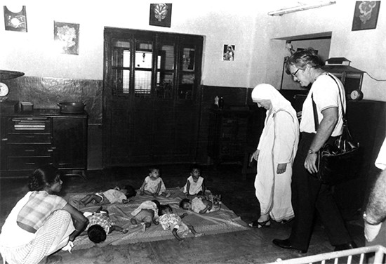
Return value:
M 173 212 L 177 213 L 180 216 L 182 213 L 187 211 L 180 209 L 178 204 L 182 198 L 185 198 L 184 194 L 181 192 L 180 187 L 169 188 L 172 195 L 171 197 L 157 197 L 161 204 L 170 204 L 173 208 Z M 83 198 L 86 193 L 72 193 L 67 194 L 69 204 L 72 204 L 76 209 L 80 211 L 95 211 L 99 206 L 86 206 L 84 207 L 79 203 L 79 200 Z M 137 242 L 152 242 L 164 239 L 175 239 L 171 230 L 163 230 L 161 225 L 152 224 L 151 227 L 147 228 L 145 232 L 142 231 L 142 225 L 138 227 L 133 227 L 130 223 L 132 218 L 131 212 L 134 209 L 145 201 L 154 199 L 148 195 L 137 195 L 134 197 L 133 201 L 128 204 L 105 204 L 103 209 L 109 211 L 109 216 L 116 225 L 119 225 L 123 228 L 127 228 L 128 232 L 123 234 L 121 232 L 113 231 L 107 235 L 105 242 L 100 244 L 94 244 L 91 242 L 87 235 L 82 235 L 76 237 L 74 241 L 73 250 L 77 249 L 88 249 L 93 246 L 107 246 L 119 245 L 119 244 L 131 244 Z M 192 211 L 188 212 L 189 215 L 185 216 L 182 219 L 185 223 L 193 225 L 194 229 L 199 233 L 204 233 L 205 235 L 220 234 L 225 232 L 236 232 L 241 230 L 248 230 L 248 225 L 241 220 L 232 210 L 228 209 L 225 204 L 221 205 L 220 211 L 212 213 L 194 213 Z

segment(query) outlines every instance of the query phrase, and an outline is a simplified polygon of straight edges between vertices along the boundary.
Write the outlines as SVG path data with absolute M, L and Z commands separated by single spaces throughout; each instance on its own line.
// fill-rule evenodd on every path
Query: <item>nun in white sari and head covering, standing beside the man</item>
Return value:
M 286 223 L 293 218 L 291 205 L 292 164 L 298 150 L 299 122 L 291 103 L 269 84 L 259 84 L 252 100 L 267 110 L 258 149 L 255 178 L 260 218 L 251 227 L 269 227 L 270 219 Z

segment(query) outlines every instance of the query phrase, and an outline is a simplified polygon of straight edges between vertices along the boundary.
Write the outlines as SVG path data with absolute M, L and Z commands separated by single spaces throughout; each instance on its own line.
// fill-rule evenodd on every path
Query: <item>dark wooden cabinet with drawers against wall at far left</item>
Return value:
M 1 114 L 1 177 L 25 176 L 44 164 L 87 169 L 87 114 L 58 110 Z M 71 172 L 72 173 L 72 172 Z M 84 172 L 82 172 L 84 176 Z

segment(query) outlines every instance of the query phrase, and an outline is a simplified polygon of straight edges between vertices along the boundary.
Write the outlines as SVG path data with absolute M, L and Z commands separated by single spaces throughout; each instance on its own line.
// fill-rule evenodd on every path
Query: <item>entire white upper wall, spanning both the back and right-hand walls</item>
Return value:
M 15 3 L 6 0 L 3 5 L 7 1 Z M 375 79 L 386 79 L 386 39 L 382 33 L 386 5 L 380 6 L 376 29 L 352 32 L 355 1 L 336 1 L 333 6 L 272 17 L 268 11 L 298 1 L 171 0 L 168 28 L 149 26 L 149 5 L 154 3 L 150 0 L 30 0 L 23 2 L 27 33 L 6 31 L 4 19 L 0 19 L 0 70 L 35 77 L 102 79 L 103 29 L 121 27 L 204 36 L 202 84 L 208 86 L 254 87 L 267 82 L 279 88 L 288 54 L 285 41 L 275 39 L 320 32 L 333 32 L 330 57 L 345 57 Z M 54 50 L 54 21 L 80 25 L 79 55 Z M 223 44 L 236 46 L 233 62 L 222 61 Z M 366 75 L 362 91 L 366 99 L 386 101 L 385 82 Z

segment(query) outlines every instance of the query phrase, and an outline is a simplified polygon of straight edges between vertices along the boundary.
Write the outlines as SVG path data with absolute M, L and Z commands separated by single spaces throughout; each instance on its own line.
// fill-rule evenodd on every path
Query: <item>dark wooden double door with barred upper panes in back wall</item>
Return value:
M 196 158 L 203 37 L 105 28 L 104 166 Z

